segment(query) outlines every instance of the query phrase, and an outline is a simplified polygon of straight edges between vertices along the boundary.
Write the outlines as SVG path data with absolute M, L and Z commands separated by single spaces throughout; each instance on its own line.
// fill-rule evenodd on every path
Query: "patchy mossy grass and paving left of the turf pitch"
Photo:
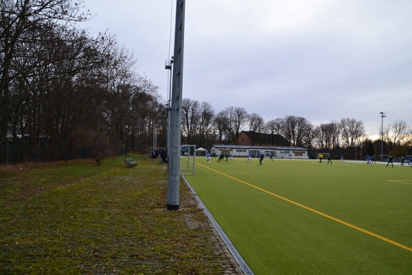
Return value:
M 1 274 L 223 274 L 236 266 L 184 184 L 124 157 L 0 168 Z

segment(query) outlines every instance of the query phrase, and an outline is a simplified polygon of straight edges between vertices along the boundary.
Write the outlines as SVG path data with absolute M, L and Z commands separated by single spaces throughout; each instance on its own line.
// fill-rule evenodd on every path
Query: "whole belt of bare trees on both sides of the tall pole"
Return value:
M 0 2 L 0 162 L 53 161 L 165 146 L 168 111 L 159 87 L 135 71 L 133 53 L 106 32 L 90 34 L 82 1 Z M 264 122 L 257 113 L 184 99 L 182 142 L 237 144 L 241 131 L 282 135 L 293 146 L 352 154 L 376 151 L 363 122 L 344 118 L 313 125 L 286 115 Z M 402 120 L 382 135 L 385 153 L 412 154 Z M 378 147 L 380 151 L 380 147 Z M 398 155 L 398 154 L 397 154 Z

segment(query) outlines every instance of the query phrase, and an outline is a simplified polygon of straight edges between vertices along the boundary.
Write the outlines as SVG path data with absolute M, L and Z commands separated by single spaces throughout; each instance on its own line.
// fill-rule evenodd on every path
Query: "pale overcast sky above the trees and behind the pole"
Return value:
M 216 113 L 243 107 L 265 122 L 286 115 L 314 125 L 354 118 L 372 138 L 380 111 L 384 126 L 412 126 L 412 1 L 185 3 L 183 98 L 209 102 Z M 80 26 L 114 34 L 166 100 L 176 0 L 84 5 L 95 17 Z

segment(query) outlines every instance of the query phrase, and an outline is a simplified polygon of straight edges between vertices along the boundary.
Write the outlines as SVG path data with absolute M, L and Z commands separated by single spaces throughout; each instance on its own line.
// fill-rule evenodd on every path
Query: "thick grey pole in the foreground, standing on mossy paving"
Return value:
M 185 30 L 185 1 L 176 2 L 174 29 L 174 65 L 172 80 L 172 104 L 170 107 L 170 154 L 168 174 L 168 210 L 179 210 L 181 107 L 183 87 L 183 45 Z

